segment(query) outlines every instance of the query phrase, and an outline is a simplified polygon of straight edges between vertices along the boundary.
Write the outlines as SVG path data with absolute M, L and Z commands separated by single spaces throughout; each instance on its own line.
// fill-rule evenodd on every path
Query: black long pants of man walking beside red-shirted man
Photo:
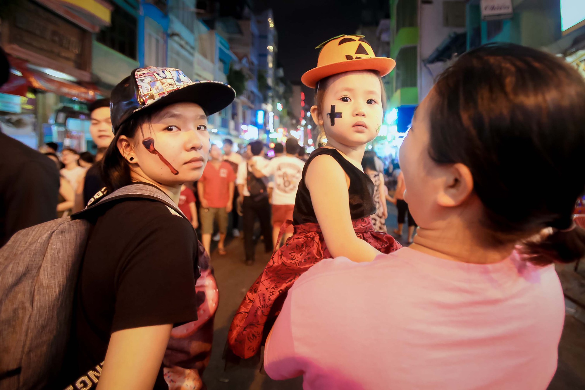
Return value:
M 264 236 L 264 246 L 266 251 L 272 251 L 272 225 L 270 223 L 270 203 L 268 197 L 260 201 L 254 201 L 252 197 L 245 196 L 243 208 L 244 218 L 244 248 L 246 250 L 246 260 L 254 260 L 256 248 L 254 248 L 254 222 L 256 217 L 260 220 L 260 230 Z

